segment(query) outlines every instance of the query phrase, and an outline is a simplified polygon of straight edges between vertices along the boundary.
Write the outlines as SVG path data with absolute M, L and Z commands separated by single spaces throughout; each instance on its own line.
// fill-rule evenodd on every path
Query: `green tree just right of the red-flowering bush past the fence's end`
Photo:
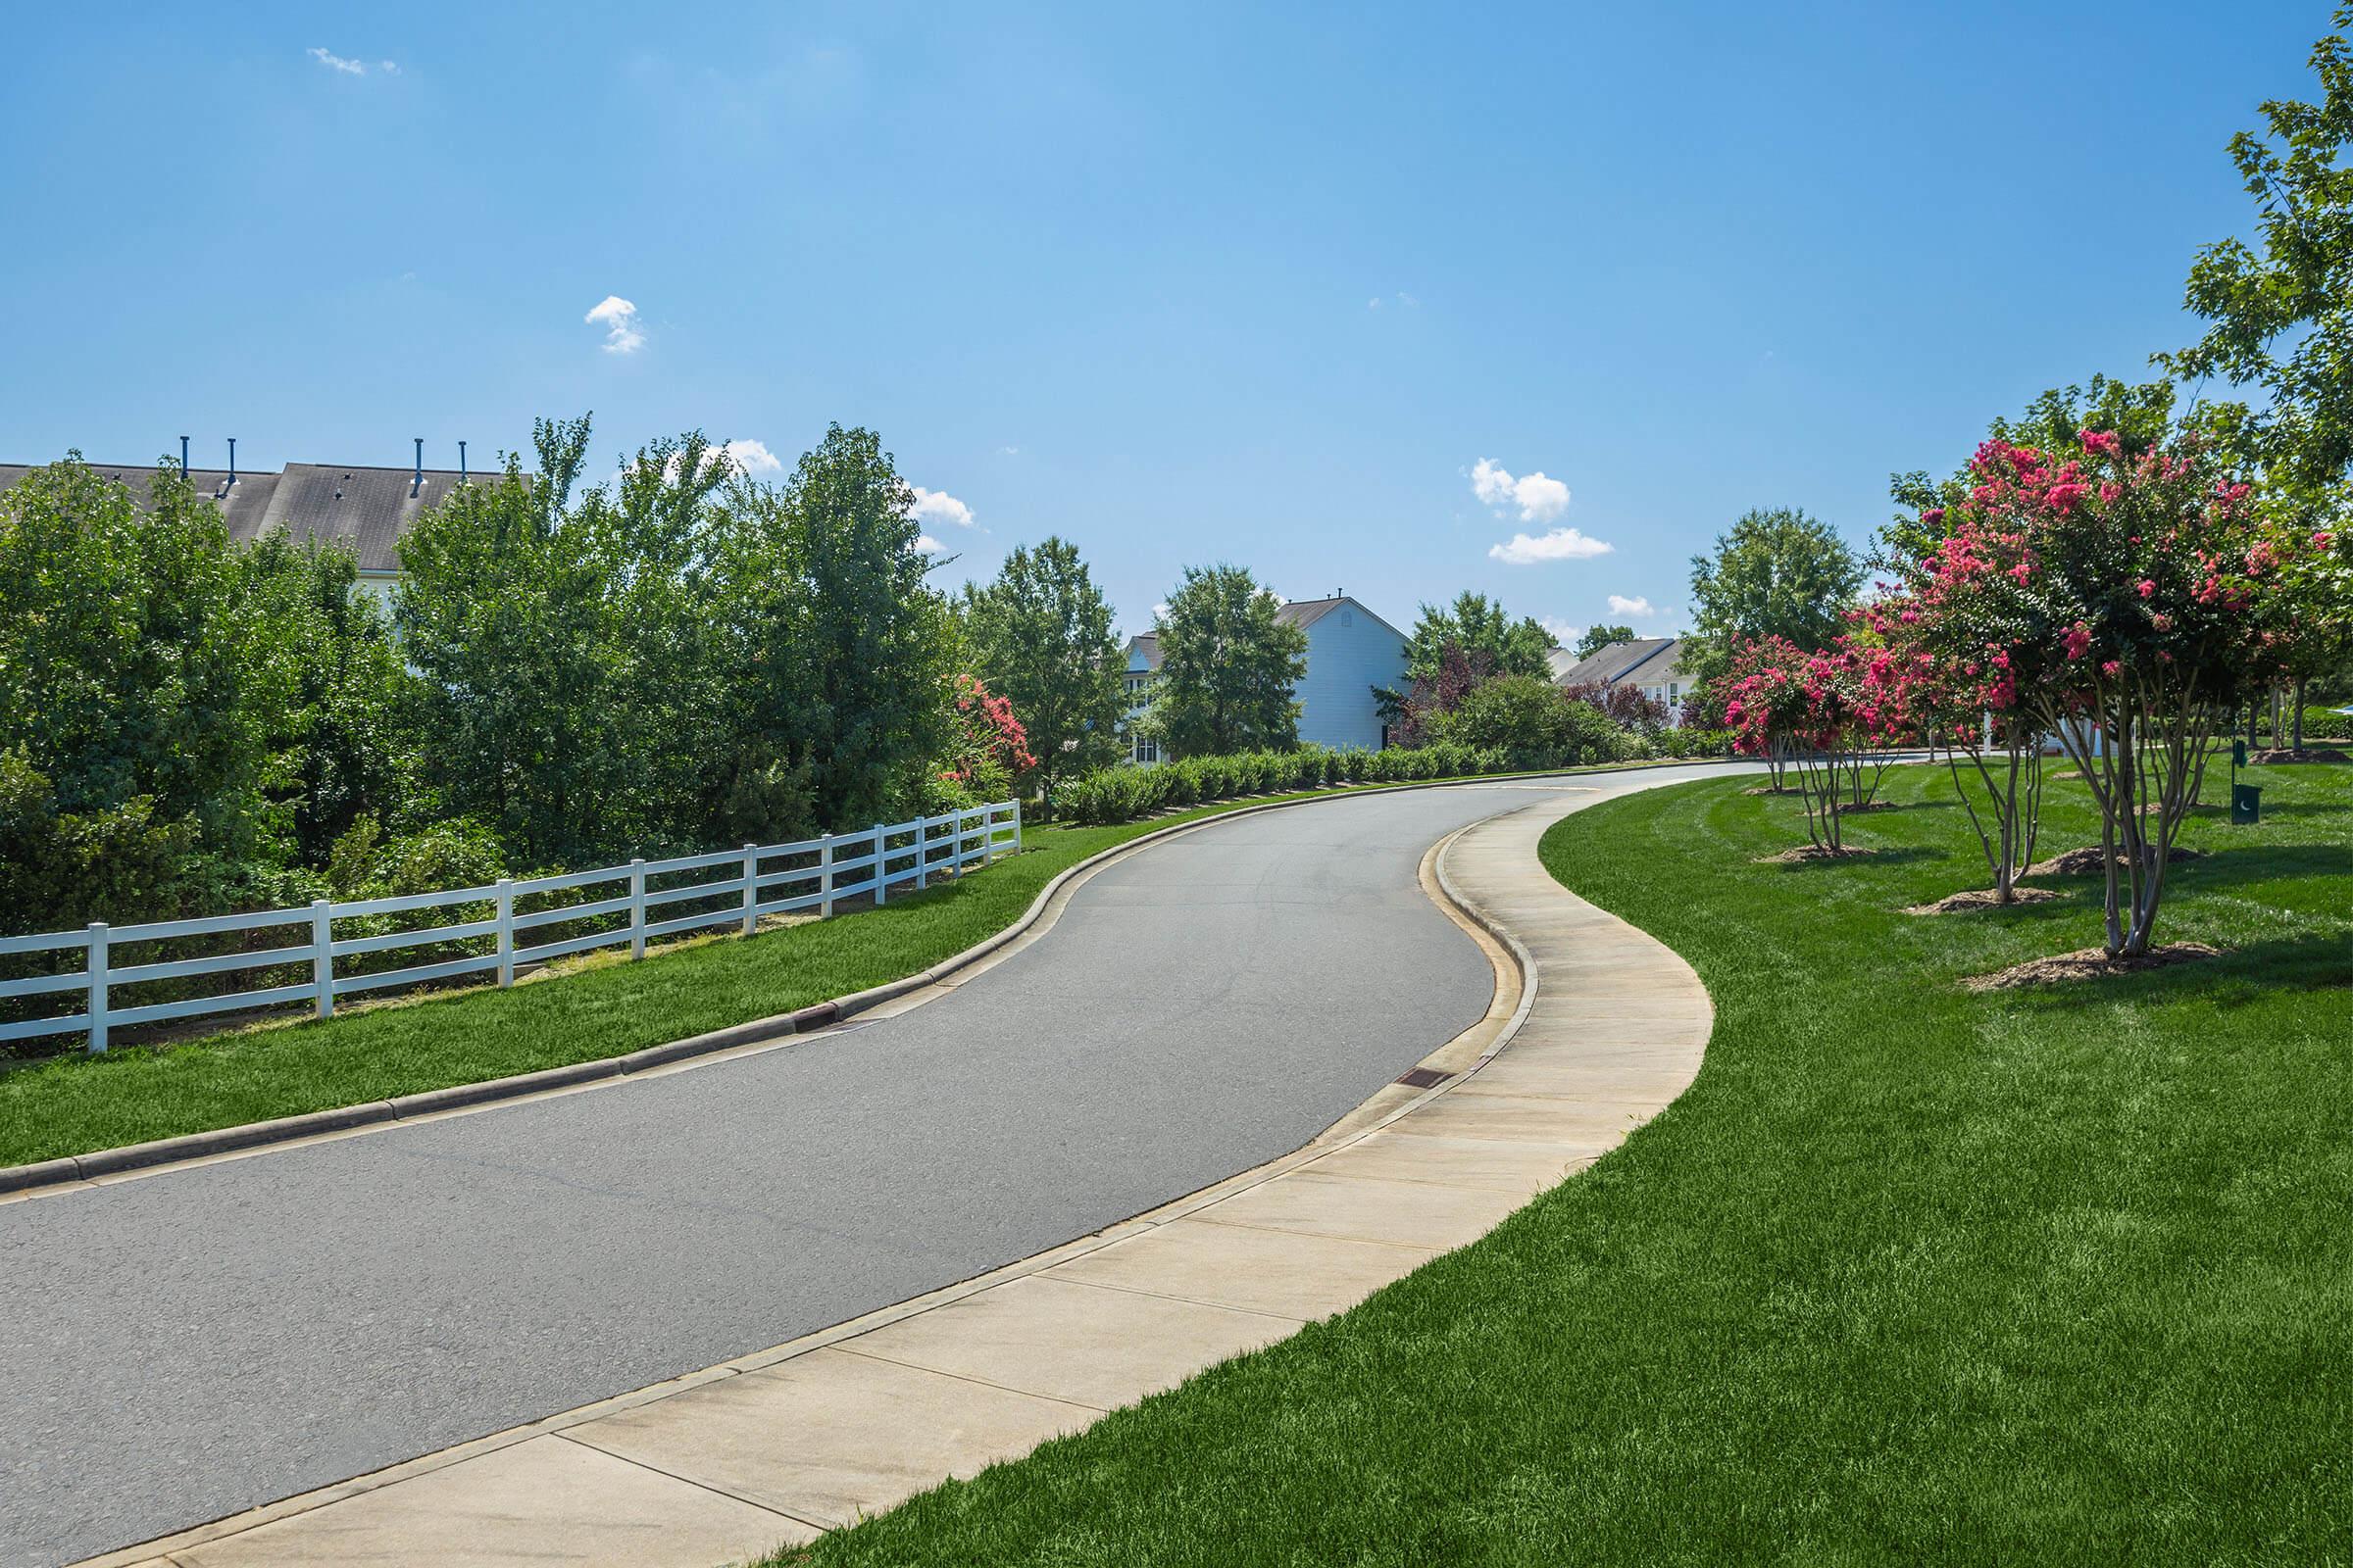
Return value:
M 965 585 L 962 618 L 976 672 L 1028 731 L 1047 799 L 1056 780 L 1118 759 L 1120 642 L 1078 545 L 1049 536 L 1016 548 L 993 583 Z

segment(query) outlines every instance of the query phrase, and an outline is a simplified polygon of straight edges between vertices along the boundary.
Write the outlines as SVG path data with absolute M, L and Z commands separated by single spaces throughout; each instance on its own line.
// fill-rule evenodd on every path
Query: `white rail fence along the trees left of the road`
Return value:
M 913 884 L 920 889 L 932 877 L 962 875 L 969 865 L 986 865 L 998 853 L 1016 849 L 1021 849 L 1021 804 L 998 802 L 913 823 L 875 823 L 864 832 L 831 832 L 821 839 L 802 839 L 800 844 L 746 844 L 744 849 L 720 849 L 704 856 L 631 860 L 628 865 L 593 872 L 527 877 L 520 882 L 501 877 L 489 886 L 449 893 L 405 893 L 400 898 L 360 898 L 353 903 L 320 898 L 306 910 L 158 919 L 144 926 L 94 924 L 87 931 L 0 936 L 0 959 L 61 954 L 49 961 L 68 961 L 71 954 L 80 954 L 80 969 L 0 980 L 0 999 L 80 992 L 78 999 L 82 1001 L 80 1013 L 0 1023 L 0 1039 L 78 1034 L 87 1030 L 89 1048 L 104 1051 L 108 1030 L 127 1030 L 169 1018 L 195 1018 L 200 1013 L 247 1011 L 292 1001 L 306 1001 L 318 1018 L 332 1018 L 336 997 L 424 985 L 480 971 L 496 971 L 499 985 L 513 985 L 518 964 L 544 964 L 572 952 L 619 947 L 621 943 L 628 943 L 628 957 L 642 959 L 649 940 L 706 926 L 732 924 L 748 936 L 762 914 L 816 910 L 824 917 L 833 914 L 835 900 L 861 893 L 873 896 L 875 903 L 889 903 L 894 886 Z M 664 886 L 649 889 L 649 882 Z M 569 898 L 569 903 L 560 903 L 560 898 Z M 518 912 L 518 903 L 539 907 Z M 459 910 L 447 924 L 416 931 L 381 929 L 384 917 L 447 905 L 480 905 L 482 910 L 471 919 L 466 910 Z M 659 912 L 671 905 L 715 907 L 661 917 Z M 360 936 L 336 936 L 334 924 L 339 919 L 379 929 Z M 529 940 L 534 933 L 553 933 L 576 922 L 591 922 L 591 929 Z M 233 952 L 172 961 L 122 961 L 132 957 L 122 950 L 141 943 L 207 936 L 245 938 L 256 931 L 275 931 L 278 936 L 271 938 L 275 945 L 259 950 L 247 945 Z M 336 959 L 398 952 L 402 947 L 478 943 L 478 938 L 494 940 L 487 950 L 466 952 L 466 957 L 456 959 L 365 973 L 351 973 L 358 966 L 346 964 L 346 973 L 336 973 Z M 144 1006 L 115 1006 L 108 999 L 115 987 L 125 985 L 249 969 L 285 969 L 304 978 L 287 985 L 228 990 Z

